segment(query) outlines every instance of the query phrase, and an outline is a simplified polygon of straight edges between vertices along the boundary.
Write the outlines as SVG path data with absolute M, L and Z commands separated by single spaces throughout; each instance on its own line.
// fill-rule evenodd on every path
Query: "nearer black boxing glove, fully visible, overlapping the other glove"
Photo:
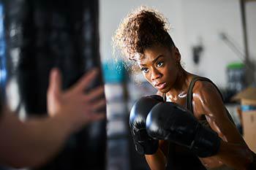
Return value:
M 146 119 L 148 135 L 188 147 L 201 158 L 217 154 L 220 138 L 201 125 L 189 110 L 173 102 L 162 102 L 151 109 Z

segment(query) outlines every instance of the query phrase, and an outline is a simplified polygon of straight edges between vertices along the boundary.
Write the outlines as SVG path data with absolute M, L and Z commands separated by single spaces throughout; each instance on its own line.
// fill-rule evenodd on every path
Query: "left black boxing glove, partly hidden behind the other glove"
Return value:
M 152 155 L 157 152 L 158 140 L 152 139 L 146 132 L 146 117 L 152 107 L 163 101 L 161 96 L 145 96 L 133 105 L 129 115 L 129 127 L 135 143 L 135 150 L 140 154 Z

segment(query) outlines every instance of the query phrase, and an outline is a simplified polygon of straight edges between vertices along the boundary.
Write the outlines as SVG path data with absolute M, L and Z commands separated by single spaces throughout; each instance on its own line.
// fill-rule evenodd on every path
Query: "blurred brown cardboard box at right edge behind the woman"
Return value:
M 233 99 L 241 101 L 244 140 L 249 148 L 256 152 L 256 88 L 246 88 Z

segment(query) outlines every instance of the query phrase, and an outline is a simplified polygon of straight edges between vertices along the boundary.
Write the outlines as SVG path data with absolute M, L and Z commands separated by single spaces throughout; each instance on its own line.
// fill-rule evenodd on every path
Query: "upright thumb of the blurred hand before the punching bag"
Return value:
M 59 69 L 54 68 L 50 71 L 48 93 L 54 96 L 61 93 L 61 73 Z

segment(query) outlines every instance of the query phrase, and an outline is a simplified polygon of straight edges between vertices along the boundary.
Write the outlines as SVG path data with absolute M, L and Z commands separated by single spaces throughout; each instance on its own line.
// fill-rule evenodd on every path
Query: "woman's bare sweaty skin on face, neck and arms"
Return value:
M 176 47 L 154 46 L 144 50 L 143 57 L 137 63 L 159 95 L 165 93 L 167 101 L 185 107 L 189 82 L 195 75 L 186 72 L 180 61 L 181 55 Z M 200 161 L 207 168 L 225 165 L 233 169 L 246 169 L 252 162 L 252 151 L 227 117 L 218 90 L 210 82 L 197 81 L 192 92 L 195 117 L 197 120 L 206 117 L 208 124 L 222 139 L 218 154 L 200 158 Z M 154 155 L 146 155 L 146 161 L 153 170 L 165 169 L 167 164 L 167 143 L 159 143 L 159 150 Z

